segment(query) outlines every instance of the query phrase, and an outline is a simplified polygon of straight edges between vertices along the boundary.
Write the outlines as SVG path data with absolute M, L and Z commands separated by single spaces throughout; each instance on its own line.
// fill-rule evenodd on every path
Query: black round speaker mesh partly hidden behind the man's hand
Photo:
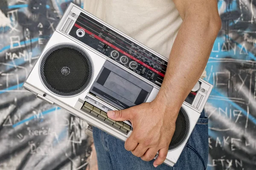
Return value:
M 179 147 L 184 142 L 189 133 L 189 116 L 184 108 L 180 108 L 179 114 L 176 119 L 176 127 L 172 141 L 169 144 L 169 150 Z

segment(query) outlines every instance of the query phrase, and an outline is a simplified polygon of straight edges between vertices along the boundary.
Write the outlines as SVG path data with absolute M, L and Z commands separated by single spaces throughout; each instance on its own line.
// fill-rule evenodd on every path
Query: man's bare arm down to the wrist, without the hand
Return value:
M 177 105 L 201 77 L 212 45 L 221 28 L 217 0 L 174 0 L 183 23 L 172 47 L 163 85 L 157 97 L 163 103 Z M 167 105 L 168 106 L 168 105 Z

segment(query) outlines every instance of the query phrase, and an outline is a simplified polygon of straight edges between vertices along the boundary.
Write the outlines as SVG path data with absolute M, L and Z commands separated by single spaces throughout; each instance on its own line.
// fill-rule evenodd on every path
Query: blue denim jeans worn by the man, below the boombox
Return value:
M 125 142 L 93 127 L 99 170 L 205 170 L 208 161 L 208 118 L 201 113 L 180 158 L 174 167 L 143 161 L 125 150 Z

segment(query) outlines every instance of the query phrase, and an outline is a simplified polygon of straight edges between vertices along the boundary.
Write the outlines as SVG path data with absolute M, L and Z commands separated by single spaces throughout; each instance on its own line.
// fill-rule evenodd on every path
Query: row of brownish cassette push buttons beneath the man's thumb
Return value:
M 91 105 L 88 102 L 85 102 L 82 109 L 91 113 L 93 116 L 96 116 L 98 119 L 102 120 L 103 122 L 107 122 L 108 124 L 118 128 L 120 131 L 124 133 L 128 133 L 131 130 L 131 126 L 127 125 L 124 122 L 116 122 L 110 119 L 105 111 L 96 108 L 95 106 Z

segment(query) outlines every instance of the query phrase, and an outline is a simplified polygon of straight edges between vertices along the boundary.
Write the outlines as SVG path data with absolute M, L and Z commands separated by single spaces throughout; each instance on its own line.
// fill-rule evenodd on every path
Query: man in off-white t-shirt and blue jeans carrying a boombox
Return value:
M 163 84 L 152 102 L 108 112 L 116 121 L 131 121 L 134 130 L 125 143 L 94 128 L 99 170 L 206 169 L 208 120 L 204 113 L 177 164 L 162 163 L 177 113 L 198 79 L 205 76 L 221 28 L 217 0 L 84 0 L 84 9 L 169 58 Z

